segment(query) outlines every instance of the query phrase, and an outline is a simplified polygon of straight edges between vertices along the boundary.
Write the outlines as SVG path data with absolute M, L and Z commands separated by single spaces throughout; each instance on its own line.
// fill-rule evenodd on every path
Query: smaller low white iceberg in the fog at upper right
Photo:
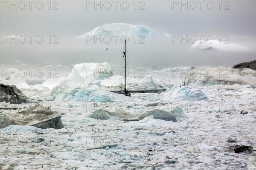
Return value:
M 244 47 L 242 45 L 229 43 L 229 42 L 220 42 L 218 40 L 211 40 L 211 41 L 203 41 L 199 40 L 192 44 L 191 50 L 218 50 L 218 51 L 235 51 L 235 52 L 242 52 L 242 51 L 252 51 L 251 49 Z

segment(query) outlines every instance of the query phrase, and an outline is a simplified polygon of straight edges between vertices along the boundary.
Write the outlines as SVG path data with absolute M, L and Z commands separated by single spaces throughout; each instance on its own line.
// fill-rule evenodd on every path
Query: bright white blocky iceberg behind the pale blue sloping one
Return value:
M 95 80 L 103 80 L 112 76 L 109 62 L 100 63 L 81 63 L 74 65 L 68 79 L 90 85 Z

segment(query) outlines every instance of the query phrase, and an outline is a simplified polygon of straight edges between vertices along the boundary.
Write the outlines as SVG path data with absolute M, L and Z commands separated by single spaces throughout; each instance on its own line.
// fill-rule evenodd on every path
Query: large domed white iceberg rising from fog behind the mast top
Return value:
M 156 30 L 148 28 L 143 25 L 131 25 L 127 23 L 110 23 L 104 24 L 88 31 L 79 37 L 78 39 L 86 39 L 88 36 L 105 36 L 105 35 L 119 35 L 122 37 L 126 35 L 128 37 L 133 37 L 134 35 L 143 35 L 144 37 L 168 37 L 167 33 L 159 34 Z

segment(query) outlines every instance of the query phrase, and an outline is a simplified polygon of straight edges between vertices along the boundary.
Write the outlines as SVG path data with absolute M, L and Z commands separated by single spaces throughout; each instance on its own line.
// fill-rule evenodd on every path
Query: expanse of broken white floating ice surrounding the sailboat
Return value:
M 16 70 L 18 75 L 26 66 L 2 68 L 7 72 Z M 255 153 L 225 151 L 230 145 L 256 148 L 254 70 L 207 66 L 147 68 L 143 69 L 143 77 L 130 75 L 128 89 L 154 89 L 160 85 L 166 92 L 128 97 L 107 91 L 118 89 L 122 80 L 122 76 L 111 73 L 113 68 L 108 62 L 36 65 L 36 69 L 44 75 L 38 72 L 30 78 L 26 69 L 25 77 L 3 75 L 1 83 L 16 85 L 32 103 L 1 102 L 1 108 L 9 108 L 1 109 L 1 113 L 40 103 L 61 113 L 64 128 L 11 125 L 0 129 L 3 169 L 256 168 Z M 98 74 L 88 75 L 90 69 L 96 69 Z M 241 111 L 248 113 L 243 115 Z M 143 117 L 145 113 L 149 116 Z M 169 113 L 175 115 L 176 121 L 163 120 L 163 115 Z

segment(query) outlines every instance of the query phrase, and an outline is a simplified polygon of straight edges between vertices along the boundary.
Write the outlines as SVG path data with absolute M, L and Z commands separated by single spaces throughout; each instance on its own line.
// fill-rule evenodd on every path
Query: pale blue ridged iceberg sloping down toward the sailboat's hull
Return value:
M 128 96 L 103 90 L 97 85 L 84 85 L 79 82 L 65 80 L 52 90 L 53 101 L 76 102 L 122 102 L 130 101 Z

